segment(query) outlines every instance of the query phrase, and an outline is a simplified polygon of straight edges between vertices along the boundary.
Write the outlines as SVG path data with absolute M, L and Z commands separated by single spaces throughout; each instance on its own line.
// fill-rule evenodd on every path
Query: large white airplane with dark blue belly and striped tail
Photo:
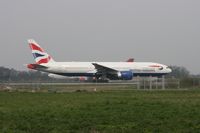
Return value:
M 109 80 L 132 80 L 135 76 L 162 76 L 172 70 L 153 62 L 56 62 L 33 39 L 28 40 L 36 63 L 27 68 L 68 77 L 94 77 Z

